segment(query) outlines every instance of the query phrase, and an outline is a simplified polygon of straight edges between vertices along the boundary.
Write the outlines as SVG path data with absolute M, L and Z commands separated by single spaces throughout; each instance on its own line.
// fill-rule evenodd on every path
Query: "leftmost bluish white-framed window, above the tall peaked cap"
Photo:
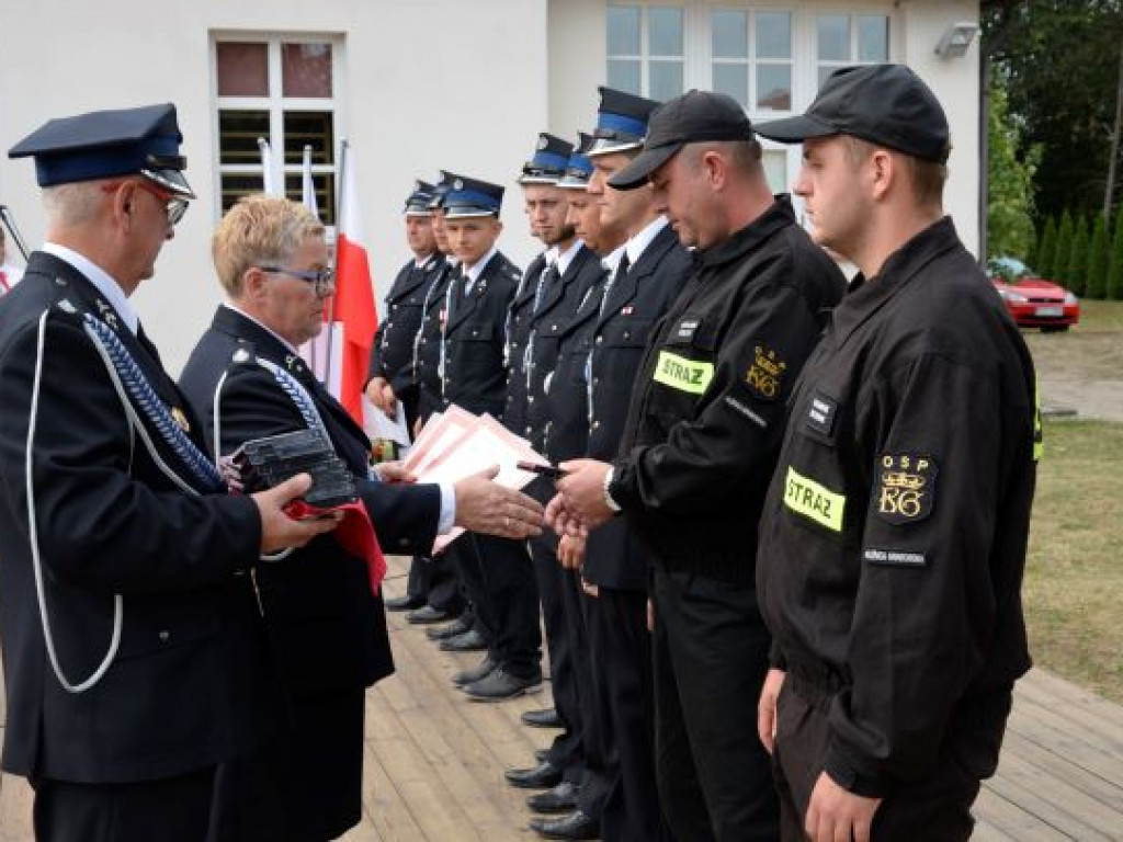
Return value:
M 654 100 L 686 90 L 686 9 L 665 4 L 608 7 L 608 84 Z

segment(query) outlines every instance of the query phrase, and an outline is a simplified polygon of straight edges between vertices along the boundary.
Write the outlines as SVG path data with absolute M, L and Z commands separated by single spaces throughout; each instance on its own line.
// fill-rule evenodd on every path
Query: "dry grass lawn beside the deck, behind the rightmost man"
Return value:
M 1123 703 L 1123 424 L 1047 419 L 1044 434 L 1023 588 L 1030 651 Z

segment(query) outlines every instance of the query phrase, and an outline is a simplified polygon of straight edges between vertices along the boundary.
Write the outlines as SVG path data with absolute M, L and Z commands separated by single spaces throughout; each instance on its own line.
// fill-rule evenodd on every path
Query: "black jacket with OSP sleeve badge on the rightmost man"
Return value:
M 1002 722 L 1029 668 L 1034 392 L 948 218 L 851 289 L 807 361 L 757 587 L 775 660 L 837 689 L 825 768 L 843 787 L 923 776 L 958 717 Z

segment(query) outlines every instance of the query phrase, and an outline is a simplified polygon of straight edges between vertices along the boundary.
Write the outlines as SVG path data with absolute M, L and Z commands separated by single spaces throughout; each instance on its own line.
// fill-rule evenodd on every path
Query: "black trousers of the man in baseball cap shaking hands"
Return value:
M 751 585 L 655 570 L 656 770 L 676 839 L 775 840 L 757 699 L 769 637 Z

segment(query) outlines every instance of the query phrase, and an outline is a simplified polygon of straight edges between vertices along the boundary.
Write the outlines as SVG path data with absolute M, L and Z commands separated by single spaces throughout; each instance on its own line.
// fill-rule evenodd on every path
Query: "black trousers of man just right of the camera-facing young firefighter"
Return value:
M 546 629 L 546 647 L 550 653 L 554 707 L 564 726 L 562 733 L 554 738 L 547 760 L 562 769 L 567 780 L 579 784 L 585 767 L 582 715 L 573 668 L 573 635 L 567 629 L 562 595 L 563 579 L 568 570 L 562 569 L 556 550 L 557 538 L 553 534 L 530 539 L 530 555 L 535 559 L 535 574 L 538 578 L 538 601 L 542 607 L 542 626 Z

